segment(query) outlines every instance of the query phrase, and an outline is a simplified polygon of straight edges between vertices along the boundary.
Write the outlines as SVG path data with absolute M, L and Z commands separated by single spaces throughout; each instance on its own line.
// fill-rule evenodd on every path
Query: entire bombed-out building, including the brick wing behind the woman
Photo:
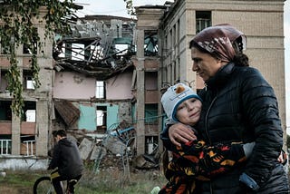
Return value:
M 186 82 L 194 90 L 204 87 L 191 71 L 189 41 L 205 27 L 220 23 L 233 24 L 247 34 L 247 55 L 274 86 L 285 129 L 284 1 L 238 2 L 144 5 L 136 7 L 137 20 L 109 15 L 79 18 L 71 24 L 72 34 L 55 35 L 56 44 L 43 47 L 38 89 L 32 86 L 27 66 L 31 56 L 19 49 L 26 115 L 21 119 L 10 112 L 12 98 L 5 90 L 10 63 L 1 54 L 2 159 L 45 158 L 53 147 L 52 131 L 58 129 L 78 141 L 83 160 L 100 163 L 106 152 L 102 146 L 114 154 L 127 147 L 135 156 L 160 152 L 159 134 L 166 119 L 160 91 L 176 82 Z M 44 25 L 37 26 L 43 35 Z

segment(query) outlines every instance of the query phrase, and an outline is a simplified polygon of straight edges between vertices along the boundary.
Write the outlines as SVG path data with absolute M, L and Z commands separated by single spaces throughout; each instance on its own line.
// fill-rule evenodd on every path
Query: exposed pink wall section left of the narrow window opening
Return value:
M 95 96 L 96 79 L 81 73 L 55 73 L 53 98 L 90 99 Z

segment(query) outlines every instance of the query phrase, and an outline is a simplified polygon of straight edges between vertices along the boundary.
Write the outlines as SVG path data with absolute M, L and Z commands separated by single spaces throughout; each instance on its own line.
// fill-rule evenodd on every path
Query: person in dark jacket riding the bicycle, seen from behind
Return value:
M 66 138 L 66 131 L 55 131 L 53 137 L 57 143 L 53 147 L 53 159 L 47 170 L 53 170 L 51 179 L 55 192 L 63 194 L 61 181 L 73 180 L 75 184 L 81 179 L 84 166 L 76 142 Z M 74 193 L 74 184 L 68 186 L 70 193 Z

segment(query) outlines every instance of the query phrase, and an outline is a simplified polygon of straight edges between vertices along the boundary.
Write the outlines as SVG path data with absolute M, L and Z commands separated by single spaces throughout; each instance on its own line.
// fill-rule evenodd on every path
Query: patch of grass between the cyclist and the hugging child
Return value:
M 160 170 L 134 170 L 129 174 L 110 168 L 97 174 L 87 171 L 76 191 L 88 194 L 150 194 L 151 189 L 161 187 L 165 182 Z

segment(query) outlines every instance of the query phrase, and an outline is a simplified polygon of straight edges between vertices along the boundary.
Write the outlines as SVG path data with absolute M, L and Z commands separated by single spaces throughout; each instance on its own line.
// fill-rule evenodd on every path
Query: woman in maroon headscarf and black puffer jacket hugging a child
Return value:
M 190 42 L 192 70 L 206 83 L 198 93 L 203 106 L 198 135 L 209 145 L 255 141 L 250 158 L 225 174 L 200 181 L 200 193 L 288 193 L 283 165 L 277 160 L 283 130 L 273 88 L 243 53 L 246 36 L 229 24 L 208 27 Z M 181 123 L 161 136 L 180 145 L 196 139 Z

